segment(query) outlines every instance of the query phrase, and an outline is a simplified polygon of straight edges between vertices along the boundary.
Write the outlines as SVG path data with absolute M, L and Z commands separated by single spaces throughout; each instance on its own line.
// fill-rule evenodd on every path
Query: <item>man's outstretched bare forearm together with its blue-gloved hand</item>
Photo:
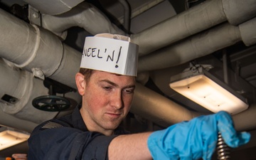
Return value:
M 115 137 L 110 142 L 109 159 L 210 160 L 218 132 L 233 148 L 250 140 L 247 132 L 236 132 L 227 112 L 196 117 L 156 132 Z

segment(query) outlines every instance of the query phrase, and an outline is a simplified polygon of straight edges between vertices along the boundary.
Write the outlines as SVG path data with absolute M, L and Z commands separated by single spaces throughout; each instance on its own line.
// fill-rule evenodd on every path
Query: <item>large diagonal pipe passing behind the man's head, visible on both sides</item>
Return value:
M 69 51 L 67 49 L 68 46 L 65 46 L 63 43 L 60 43 L 60 41 L 56 40 L 55 36 L 48 33 L 48 31 L 44 31 L 41 28 L 36 28 L 36 27 L 34 28 L 28 25 L 27 23 L 24 23 L 23 21 L 20 21 L 17 18 L 14 18 L 14 16 L 9 16 L 8 14 L 6 14 L 6 12 L 2 10 L 0 10 L 0 20 L 1 22 L 3 22 L 2 25 L 0 26 L 0 31 L 2 34 L 1 36 L 4 37 L 2 38 L 4 40 L 2 41 L 0 40 L 0 43 L 2 44 L 0 48 L 0 54 L 1 54 L 0 57 L 6 58 L 14 63 L 17 63 L 17 65 L 23 66 L 23 68 L 30 71 L 33 68 L 39 68 L 40 70 L 42 70 L 43 74 L 46 74 L 50 77 L 55 76 L 54 80 L 58 80 L 59 82 L 64 82 L 63 84 L 66 84 L 69 86 L 75 86 L 73 84 L 75 80 L 70 80 L 70 78 L 75 77 L 74 75 L 79 68 L 80 55 L 78 56 L 77 51 L 73 50 L 72 48 L 69 48 L 70 50 Z M 40 32 L 38 32 L 38 30 Z M 16 31 L 19 31 L 19 32 L 17 33 Z M 38 33 L 41 33 L 41 34 L 38 35 Z M 35 42 L 32 40 L 35 40 L 37 36 L 38 36 L 38 39 L 41 39 L 45 44 L 41 44 L 41 43 L 35 44 Z M 28 46 L 28 42 L 30 42 L 29 44 L 31 46 Z M 14 44 L 14 46 L 16 47 L 14 48 L 9 44 Z M 60 46 L 63 47 L 63 50 L 60 49 L 62 48 Z M 26 53 L 29 53 L 29 54 L 26 54 L 24 50 L 26 50 Z M 63 55 L 62 54 L 59 55 L 60 50 L 61 50 L 61 53 L 63 53 Z M 12 54 L 9 54 L 9 53 L 12 53 Z M 38 54 L 38 53 L 41 53 L 41 54 Z M 44 58 L 46 58 L 47 60 L 43 60 Z M 52 60 L 51 58 L 54 58 L 55 60 Z M 65 59 L 65 60 L 63 62 L 63 60 L 61 61 L 60 59 Z M 53 63 L 53 61 L 55 61 L 55 63 Z M 55 65 L 56 61 L 57 61 L 57 65 Z M 45 65 L 43 63 L 45 63 Z M 28 65 L 24 65 L 24 64 L 28 64 Z M 78 66 L 75 66 L 75 64 L 77 64 Z M 51 68 L 52 66 L 53 68 Z M 68 74 L 66 74 L 65 72 L 68 72 Z M 66 81 L 63 79 L 65 79 Z M 183 120 L 191 119 L 197 116 L 197 113 L 190 112 L 189 110 L 186 110 L 185 108 L 176 105 L 174 102 L 171 102 L 171 100 L 169 100 L 170 102 L 167 102 L 168 99 L 158 96 L 156 94 L 157 93 L 147 89 L 146 87 L 143 87 L 143 86 L 137 87 L 137 90 L 134 96 L 134 103 L 131 111 L 134 113 L 139 113 L 141 116 L 152 117 L 154 118 L 155 122 L 159 122 L 159 123 L 165 123 L 165 122 L 176 123 L 176 122 L 181 122 Z M 166 105 L 163 105 L 163 103 L 161 102 L 166 103 Z M 163 107 L 161 108 L 159 106 L 163 106 Z M 172 116 L 171 112 L 169 112 L 169 114 L 166 114 L 164 117 L 162 117 L 163 112 L 156 112 L 158 110 L 165 110 L 164 107 L 167 109 L 172 106 L 175 106 L 174 109 L 176 109 L 176 112 L 174 113 L 179 114 L 181 117 L 175 117 L 174 115 L 174 118 L 171 118 Z M 151 112 L 146 112 L 146 110 L 148 109 L 150 109 Z M 161 117 L 161 119 L 160 120 L 157 119 L 158 117 Z

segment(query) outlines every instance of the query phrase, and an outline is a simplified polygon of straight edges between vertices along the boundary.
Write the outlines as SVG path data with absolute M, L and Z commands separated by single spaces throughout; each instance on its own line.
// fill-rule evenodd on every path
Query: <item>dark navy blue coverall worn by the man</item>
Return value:
M 38 125 L 28 139 L 28 160 L 106 160 L 111 140 L 128 134 L 117 128 L 113 136 L 89 132 L 79 107 L 72 114 Z

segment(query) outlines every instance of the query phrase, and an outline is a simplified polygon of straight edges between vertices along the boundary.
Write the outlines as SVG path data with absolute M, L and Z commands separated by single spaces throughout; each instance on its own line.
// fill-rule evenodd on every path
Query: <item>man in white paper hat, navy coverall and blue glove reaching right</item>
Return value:
M 125 36 L 88 37 L 75 75 L 82 105 L 51 119 L 28 139 L 28 159 L 210 159 L 221 132 L 233 147 L 250 134 L 235 132 L 226 112 L 192 119 L 156 132 L 127 134 L 119 128 L 132 104 L 137 46 Z

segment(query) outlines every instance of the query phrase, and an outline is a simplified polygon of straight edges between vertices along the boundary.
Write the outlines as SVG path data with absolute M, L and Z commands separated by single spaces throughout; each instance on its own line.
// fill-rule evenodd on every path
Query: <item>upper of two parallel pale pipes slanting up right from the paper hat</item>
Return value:
M 255 8 L 255 0 L 204 1 L 151 28 L 132 34 L 131 41 L 140 46 L 140 56 L 146 55 L 224 21 L 233 25 L 247 21 L 256 16 Z

